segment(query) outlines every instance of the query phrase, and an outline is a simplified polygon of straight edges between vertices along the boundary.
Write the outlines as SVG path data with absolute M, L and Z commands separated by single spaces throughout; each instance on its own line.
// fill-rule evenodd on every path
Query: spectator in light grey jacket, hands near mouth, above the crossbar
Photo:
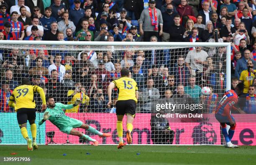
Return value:
M 64 33 L 64 38 L 66 38 L 67 37 L 67 35 L 66 35 L 67 28 L 72 29 L 72 33 L 73 33 L 73 32 L 75 32 L 76 27 L 75 27 L 74 23 L 69 20 L 69 13 L 68 12 L 63 13 L 62 19 L 63 20 L 58 22 L 58 30 L 59 30 L 59 32 L 63 32 Z

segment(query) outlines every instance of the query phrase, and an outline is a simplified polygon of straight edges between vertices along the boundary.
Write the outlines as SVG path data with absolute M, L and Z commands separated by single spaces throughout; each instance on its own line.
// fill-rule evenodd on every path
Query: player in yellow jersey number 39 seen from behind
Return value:
M 46 109 L 46 100 L 44 90 L 36 85 L 30 85 L 27 78 L 21 80 L 21 85 L 13 90 L 10 97 L 9 106 L 14 107 L 17 112 L 17 120 L 20 126 L 23 138 L 27 140 L 28 150 L 38 149 L 36 144 L 36 104 L 34 101 L 34 92 L 38 92 L 42 99 L 42 110 Z M 33 142 L 28 138 L 27 120 L 30 124 Z

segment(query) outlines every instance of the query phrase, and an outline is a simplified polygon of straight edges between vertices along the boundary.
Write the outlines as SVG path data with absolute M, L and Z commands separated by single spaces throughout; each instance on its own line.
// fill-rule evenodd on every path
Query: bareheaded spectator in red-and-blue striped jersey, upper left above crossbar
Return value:
M 25 32 L 24 32 L 24 26 L 23 23 L 18 21 L 18 12 L 13 12 L 11 14 L 11 31 L 15 33 L 16 38 L 15 40 L 23 40 L 24 36 L 25 36 Z

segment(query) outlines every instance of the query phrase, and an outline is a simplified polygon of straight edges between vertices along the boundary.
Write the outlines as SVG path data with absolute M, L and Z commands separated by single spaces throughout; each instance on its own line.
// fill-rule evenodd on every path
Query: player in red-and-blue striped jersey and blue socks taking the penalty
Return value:
M 215 110 L 215 117 L 220 122 L 221 130 L 225 138 L 225 147 L 237 148 L 237 145 L 231 143 L 231 139 L 235 133 L 236 121 L 234 117 L 230 114 L 230 110 L 237 110 L 239 113 L 245 113 L 239 107 L 235 107 L 238 103 L 238 95 L 243 92 L 243 83 L 236 85 L 236 91 L 228 90 L 225 95 L 220 100 L 217 109 Z M 226 126 L 230 125 L 230 129 L 227 131 Z

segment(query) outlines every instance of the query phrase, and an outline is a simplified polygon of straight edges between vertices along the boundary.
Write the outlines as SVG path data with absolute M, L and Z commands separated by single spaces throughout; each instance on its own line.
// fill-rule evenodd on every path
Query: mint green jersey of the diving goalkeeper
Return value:
M 58 127 L 59 130 L 63 130 L 64 128 L 68 127 L 70 123 L 72 123 L 72 118 L 65 115 L 63 109 L 70 109 L 72 107 L 74 107 L 72 104 L 64 105 L 60 102 L 56 102 L 53 109 L 47 107 L 45 112 L 49 112 L 49 114 L 51 115 L 49 117 L 50 122 Z

